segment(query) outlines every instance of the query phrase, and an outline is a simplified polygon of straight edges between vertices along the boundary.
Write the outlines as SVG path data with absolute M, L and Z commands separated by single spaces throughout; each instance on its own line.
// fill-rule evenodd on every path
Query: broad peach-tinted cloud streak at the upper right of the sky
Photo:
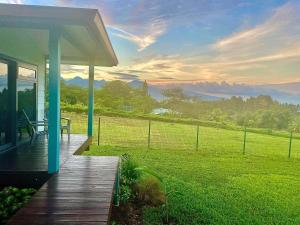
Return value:
M 212 45 L 219 61 L 256 63 L 299 57 L 300 2 L 289 2 L 262 24 Z M 233 63 L 235 64 L 235 63 Z

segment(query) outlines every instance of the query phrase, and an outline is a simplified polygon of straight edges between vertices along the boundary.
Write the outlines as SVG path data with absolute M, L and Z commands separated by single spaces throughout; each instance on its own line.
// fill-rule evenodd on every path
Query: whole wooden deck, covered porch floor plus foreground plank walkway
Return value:
M 45 170 L 46 141 L 39 143 L 40 148 L 36 145 L 32 149 L 19 149 L 20 152 L 6 156 L 6 159 L 14 163 L 15 171 Z M 62 141 L 59 173 L 53 175 L 8 224 L 108 224 L 119 158 L 73 155 L 85 141 L 86 137 L 76 135 L 69 142 L 67 139 Z M 1 169 L 9 167 L 5 164 Z

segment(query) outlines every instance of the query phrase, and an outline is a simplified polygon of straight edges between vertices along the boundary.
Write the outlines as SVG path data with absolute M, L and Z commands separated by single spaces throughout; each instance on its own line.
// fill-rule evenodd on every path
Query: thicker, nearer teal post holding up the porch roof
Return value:
M 60 154 L 60 32 L 49 31 L 48 173 L 59 170 Z

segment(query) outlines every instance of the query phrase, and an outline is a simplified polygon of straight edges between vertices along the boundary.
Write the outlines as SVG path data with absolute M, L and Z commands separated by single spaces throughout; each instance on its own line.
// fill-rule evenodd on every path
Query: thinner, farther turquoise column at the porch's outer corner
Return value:
M 88 137 L 93 137 L 94 121 L 94 65 L 89 66 Z

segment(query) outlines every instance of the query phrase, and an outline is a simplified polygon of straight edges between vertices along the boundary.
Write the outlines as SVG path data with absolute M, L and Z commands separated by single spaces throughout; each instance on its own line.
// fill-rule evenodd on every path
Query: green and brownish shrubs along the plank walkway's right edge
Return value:
M 113 207 L 111 224 L 143 224 L 143 208 L 166 203 L 162 180 L 130 155 L 121 156 L 119 205 Z

